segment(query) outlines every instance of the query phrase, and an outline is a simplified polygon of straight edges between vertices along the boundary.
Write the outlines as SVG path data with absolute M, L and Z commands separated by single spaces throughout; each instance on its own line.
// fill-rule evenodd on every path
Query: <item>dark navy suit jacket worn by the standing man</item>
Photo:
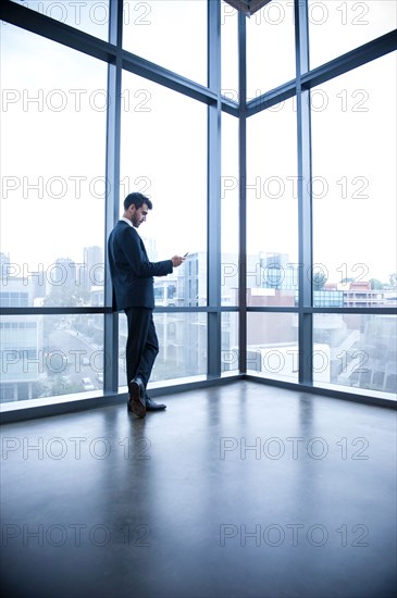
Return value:
M 110 234 L 108 251 L 113 309 L 154 309 L 153 276 L 171 274 L 172 261 L 149 262 L 138 233 L 122 220 Z

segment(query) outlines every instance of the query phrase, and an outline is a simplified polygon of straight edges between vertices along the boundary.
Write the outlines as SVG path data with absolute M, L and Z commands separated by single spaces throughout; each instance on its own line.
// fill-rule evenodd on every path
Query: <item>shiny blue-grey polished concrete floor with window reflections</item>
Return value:
M 396 593 L 396 413 L 252 382 L 2 426 L 4 597 Z

